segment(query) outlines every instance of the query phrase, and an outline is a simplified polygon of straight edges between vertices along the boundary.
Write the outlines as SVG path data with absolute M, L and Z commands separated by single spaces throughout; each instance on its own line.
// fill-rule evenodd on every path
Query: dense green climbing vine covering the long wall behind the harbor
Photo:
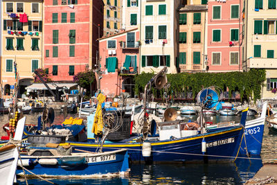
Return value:
M 154 73 L 141 73 L 135 77 L 135 93 L 143 93 L 145 85 L 154 76 Z M 177 73 L 167 74 L 170 88 L 168 94 L 173 97 L 186 96 L 188 92 L 192 98 L 205 87 L 217 86 L 222 90 L 228 88 L 229 92 L 238 91 L 240 98 L 247 100 L 260 99 L 261 86 L 265 82 L 265 69 L 251 69 L 249 72 L 228 72 L 228 73 Z M 154 96 L 158 93 L 155 91 Z M 253 96 L 252 96 L 253 95 Z M 231 96 L 231 93 L 229 94 Z

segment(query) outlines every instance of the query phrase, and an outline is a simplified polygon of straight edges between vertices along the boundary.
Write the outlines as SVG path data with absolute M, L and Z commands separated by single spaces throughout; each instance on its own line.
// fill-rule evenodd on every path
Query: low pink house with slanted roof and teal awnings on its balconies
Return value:
M 100 89 L 108 98 L 114 98 L 121 92 L 134 96 L 134 75 L 139 67 L 138 40 L 138 28 L 99 39 Z

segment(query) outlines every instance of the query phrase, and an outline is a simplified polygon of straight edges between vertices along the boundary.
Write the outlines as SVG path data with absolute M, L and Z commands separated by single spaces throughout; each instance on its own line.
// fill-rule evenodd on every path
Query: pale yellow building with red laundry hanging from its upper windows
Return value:
M 1 1 L 1 84 L 5 95 L 15 85 L 14 62 L 19 72 L 19 95 L 33 82 L 42 65 L 42 0 Z

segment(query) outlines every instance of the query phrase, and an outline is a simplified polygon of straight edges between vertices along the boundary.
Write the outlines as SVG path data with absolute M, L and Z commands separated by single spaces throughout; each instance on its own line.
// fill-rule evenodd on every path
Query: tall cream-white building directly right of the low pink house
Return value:
M 141 53 L 139 73 L 158 72 L 168 67 L 177 73 L 178 8 L 181 0 L 141 0 Z

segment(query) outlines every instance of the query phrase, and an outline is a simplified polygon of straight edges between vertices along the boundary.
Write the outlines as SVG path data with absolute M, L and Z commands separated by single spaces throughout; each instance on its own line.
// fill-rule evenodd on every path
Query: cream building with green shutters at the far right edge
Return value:
M 277 10 L 276 0 L 245 1 L 242 28 L 242 67 L 266 69 L 265 87 L 261 98 L 273 98 L 277 88 Z

